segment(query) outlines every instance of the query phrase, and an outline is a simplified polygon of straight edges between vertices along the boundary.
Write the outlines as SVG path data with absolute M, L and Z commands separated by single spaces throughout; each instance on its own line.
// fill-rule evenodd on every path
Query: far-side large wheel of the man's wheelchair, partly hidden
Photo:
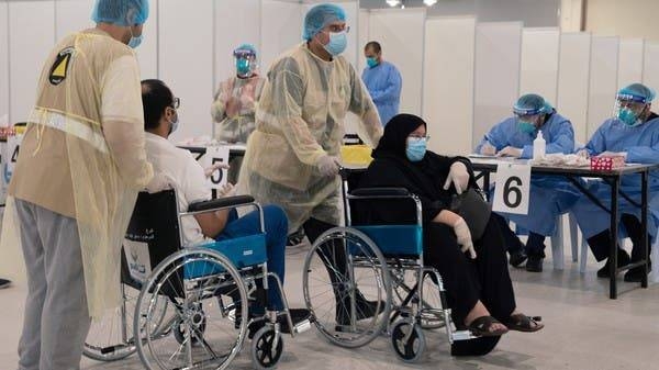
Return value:
M 135 340 L 133 337 L 133 324 L 135 303 L 139 291 L 131 285 L 121 284 L 121 293 L 123 302 L 119 310 L 105 315 L 104 317 L 91 323 L 82 354 L 97 361 L 118 361 L 133 355 L 136 350 Z M 160 302 L 154 310 L 155 317 L 154 330 L 160 326 L 165 312 L 167 311 L 167 302 Z M 144 321 L 141 322 L 144 325 Z

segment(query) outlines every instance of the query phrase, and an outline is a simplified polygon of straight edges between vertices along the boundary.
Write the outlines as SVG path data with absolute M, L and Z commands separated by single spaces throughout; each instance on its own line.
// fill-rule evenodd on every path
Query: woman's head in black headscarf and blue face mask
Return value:
M 384 126 L 384 134 L 373 155 L 388 153 L 413 162 L 421 161 L 429 138 L 426 128 L 427 124 L 420 116 L 398 114 Z

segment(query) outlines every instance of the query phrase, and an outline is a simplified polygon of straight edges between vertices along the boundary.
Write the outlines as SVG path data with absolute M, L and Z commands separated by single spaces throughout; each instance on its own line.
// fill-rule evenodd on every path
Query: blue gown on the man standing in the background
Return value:
M 387 125 L 389 120 L 399 113 L 403 86 L 401 74 L 394 65 L 382 60 L 372 68 L 366 67 L 361 74 L 361 79 L 373 103 L 378 106 L 382 125 Z

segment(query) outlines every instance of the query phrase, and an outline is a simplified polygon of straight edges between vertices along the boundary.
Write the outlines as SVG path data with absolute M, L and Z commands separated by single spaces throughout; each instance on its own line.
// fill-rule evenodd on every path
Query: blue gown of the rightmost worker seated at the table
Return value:
M 593 134 L 585 149 L 591 156 L 603 152 L 626 152 L 628 164 L 659 164 L 659 116 L 652 113 L 649 121 L 636 127 L 629 127 L 617 119 L 607 120 Z M 627 175 L 621 181 L 621 190 L 639 204 L 640 186 L 640 175 Z M 590 181 L 589 189 L 606 208 L 611 206 L 608 184 Z M 659 224 L 659 170 L 650 171 L 648 200 L 648 232 L 656 236 Z M 610 215 L 585 195 L 579 199 L 572 212 L 587 238 L 610 227 Z M 618 197 L 618 224 L 623 213 L 633 214 L 640 221 L 640 209 Z

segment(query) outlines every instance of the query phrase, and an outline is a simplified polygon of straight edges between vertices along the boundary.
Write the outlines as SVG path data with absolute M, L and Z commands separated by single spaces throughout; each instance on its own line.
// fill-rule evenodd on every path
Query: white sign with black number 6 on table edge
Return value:
M 528 214 L 530 166 L 501 164 L 496 167 L 496 188 L 492 211 Z

